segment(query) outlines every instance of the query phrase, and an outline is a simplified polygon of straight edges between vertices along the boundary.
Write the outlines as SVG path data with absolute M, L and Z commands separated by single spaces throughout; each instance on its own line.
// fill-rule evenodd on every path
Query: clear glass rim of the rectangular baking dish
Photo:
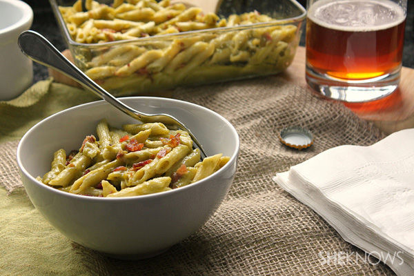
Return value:
M 77 47 L 88 47 L 88 48 L 101 48 L 101 47 L 110 47 L 110 46 L 116 46 L 121 45 L 124 43 L 131 43 L 131 42 L 148 42 L 148 41 L 157 41 L 159 38 L 161 39 L 168 39 L 169 37 L 186 37 L 188 35 L 196 35 L 196 34 L 203 34 L 208 33 L 214 30 L 215 32 L 226 32 L 226 31 L 239 31 L 244 30 L 246 28 L 264 28 L 268 26 L 274 26 L 275 23 L 277 25 L 285 25 L 285 24 L 293 24 L 293 23 L 300 23 L 306 19 L 306 8 L 304 8 L 299 2 L 296 0 L 288 0 L 291 3 L 293 3 L 301 14 L 297 15 L 296 17 L 288 17 L 286 19 L 277 19 L 269 22 L 259 22 L 259 23 L 252 23 L 249 25 L 241 25 L 241 26 L 230 26 L 230 27 L 219 27 L 219 28 L 210 28 L 206 30 L 190 30 L 187 32 L 179 32 L 174 34 L 158 34 L 152 37 L 137 37 L 136 39 L 125 39 L 125 40 L 118 40 L 118 41 L 108 41 L 103 43 L 79 43 L 77 41 L 74 41 L 72 37 L 69 34 L 68 28 L 66 26 L 65 21 L 63 20 L 63 17 L 61 15 L 61 12 L 59 11 L 59 6 L 57 4 L 56 0 L 49 0 L 50 6 L 52 6 L 53 13 L 55 14 L 55 18 L 57 19 L 59 26 L 61 28 L 61 31 L 65 34 L 63 37 L 66 39 L 66 42 L 68 43 L 68 46 L 77 46 Z

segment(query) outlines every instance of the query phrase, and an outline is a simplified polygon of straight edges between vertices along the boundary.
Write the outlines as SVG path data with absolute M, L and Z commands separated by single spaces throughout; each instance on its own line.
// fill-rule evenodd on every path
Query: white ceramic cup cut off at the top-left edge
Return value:
M 17 38 L 32 26 L 33 11 L 19 0 L 0 0 L 0 100 L 14 99 L 33 79 L 32 61 L 17 45 Z

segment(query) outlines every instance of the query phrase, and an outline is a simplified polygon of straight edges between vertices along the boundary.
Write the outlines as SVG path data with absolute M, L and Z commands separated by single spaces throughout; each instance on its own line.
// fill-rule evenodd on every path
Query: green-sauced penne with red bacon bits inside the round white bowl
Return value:
M 131 197 L 192 184 L 224 166 L 221 154 L 201 161 L 188 132 L 161 123 L 128 124 L 122 129 L 97 124 L 79 150 L 55 152 L 43 184 L 68 193 L 96 197 Z

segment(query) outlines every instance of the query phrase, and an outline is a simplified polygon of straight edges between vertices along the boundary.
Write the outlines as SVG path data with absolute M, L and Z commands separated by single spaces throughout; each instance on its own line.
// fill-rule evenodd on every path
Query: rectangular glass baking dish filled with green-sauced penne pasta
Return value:
M 295 0 L 234 2 L 214 14 L 169 0 L 50 0 L 76 65 L 115 96 L 285 70 L 306 10 Z

